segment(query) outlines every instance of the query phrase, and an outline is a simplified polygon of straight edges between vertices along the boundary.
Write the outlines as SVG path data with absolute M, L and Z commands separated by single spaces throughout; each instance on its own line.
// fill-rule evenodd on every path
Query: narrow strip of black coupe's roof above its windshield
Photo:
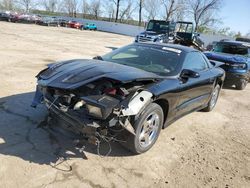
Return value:
M 166 44 L 166 43 L 160 43 L 160 42 L 144 42 L 144 43 L 136 43 L 141 46 L 152 46 L 152 47 L 168 47 L 168 48 L 174 48 L 177 50 L 181 50 L 182 52 L 189 53 L 189 52 L 199 52 L 198 50 L 187 47 L 187 46 L 182 46 L 179 44 Z

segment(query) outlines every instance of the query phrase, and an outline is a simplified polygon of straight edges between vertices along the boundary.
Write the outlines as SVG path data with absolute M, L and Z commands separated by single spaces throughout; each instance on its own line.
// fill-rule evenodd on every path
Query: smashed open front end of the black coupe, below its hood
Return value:
M 102 138 L 117 141 L 124 132 L 135 134 L 133 121 L 153 100 L 146 89 L 153 82 L 101 78 L 76 89 L 63 89 L 40 84 L 38 79 L 32 106 L 45 103 L 51 119 L 92 144 Z

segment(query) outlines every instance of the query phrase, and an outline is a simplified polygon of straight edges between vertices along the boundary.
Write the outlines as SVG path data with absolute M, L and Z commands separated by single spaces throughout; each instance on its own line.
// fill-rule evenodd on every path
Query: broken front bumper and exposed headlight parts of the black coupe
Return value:
M 43 101 L 51 118 L 59 122 L 58 125 L 86 137 L 107 136 L 109 133 L 112 134 L 110 130 L 116 128 L 126 129 L 135 134 L 131 116 L 139 115 L 153 97 L 148 91 L 137 91 L 122 102 L 108 95 L 93 95 L 77 97 L 75 99 L 78 102 L 71 103 L 72 97 L 69 92 L 52 94 L 51 90 L 56 89 L 38 85 L 32 106 L 36 107 Z M 74 94 L 72 96 L 76 97 Z M 81 106 L 75 108 L 79 102 Z

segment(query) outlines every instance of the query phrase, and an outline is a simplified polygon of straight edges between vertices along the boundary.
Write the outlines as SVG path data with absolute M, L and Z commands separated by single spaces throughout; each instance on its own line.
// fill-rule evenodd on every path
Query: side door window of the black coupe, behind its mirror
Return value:
M 193 71 L 203 71 L 208 68 L 207 62 L 202 57 L 200 52 L 190 52 L 186 55 L 183 69 L 189 69 Z

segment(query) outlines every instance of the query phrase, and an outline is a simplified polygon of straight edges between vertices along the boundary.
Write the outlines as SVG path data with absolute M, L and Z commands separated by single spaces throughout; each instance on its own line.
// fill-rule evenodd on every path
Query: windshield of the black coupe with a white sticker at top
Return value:
M 181 66 L 181 51 L 167 47 L 129 45 L 102 57 L 104 61 L 123 64 L 160 76 L 176 75 Z

